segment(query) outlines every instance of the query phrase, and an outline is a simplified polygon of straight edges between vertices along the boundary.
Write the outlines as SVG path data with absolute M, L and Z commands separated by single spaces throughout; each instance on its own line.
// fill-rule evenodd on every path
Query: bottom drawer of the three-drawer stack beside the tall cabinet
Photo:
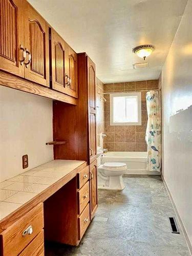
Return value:
M 84 208 L 82 214 L 78 217 L 78 239 L 81 240 L 84 232 L 90 224 L 90 204 Z

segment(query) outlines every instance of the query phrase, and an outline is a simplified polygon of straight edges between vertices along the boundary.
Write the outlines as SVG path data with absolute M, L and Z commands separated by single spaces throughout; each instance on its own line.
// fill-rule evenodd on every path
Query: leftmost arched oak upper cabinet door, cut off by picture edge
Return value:
M 0 69 L 24 77 L 22 0 L 0 1 Z

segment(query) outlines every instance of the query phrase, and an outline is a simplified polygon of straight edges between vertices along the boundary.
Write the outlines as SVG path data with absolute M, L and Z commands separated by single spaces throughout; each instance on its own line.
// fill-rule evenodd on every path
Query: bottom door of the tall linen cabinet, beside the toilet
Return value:
M 90 219 L 98 207 L 97 160 L 90 164 Z

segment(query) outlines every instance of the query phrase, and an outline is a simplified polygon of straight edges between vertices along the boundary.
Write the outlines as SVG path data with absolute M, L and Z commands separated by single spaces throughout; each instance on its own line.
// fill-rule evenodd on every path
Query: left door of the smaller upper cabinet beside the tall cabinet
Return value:
M 66 51 L 65 41 L 53 29 L 51 29 L 52 88 L 62 93 L 67 93 L 67 58 L 68 53 Z

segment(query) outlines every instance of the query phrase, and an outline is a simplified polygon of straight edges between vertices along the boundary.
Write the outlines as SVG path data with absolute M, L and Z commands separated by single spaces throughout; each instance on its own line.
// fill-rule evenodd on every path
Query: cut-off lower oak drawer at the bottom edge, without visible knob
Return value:
M 33 241 L 18 255 L 44 256 L 44 230 L 38 233 Z

